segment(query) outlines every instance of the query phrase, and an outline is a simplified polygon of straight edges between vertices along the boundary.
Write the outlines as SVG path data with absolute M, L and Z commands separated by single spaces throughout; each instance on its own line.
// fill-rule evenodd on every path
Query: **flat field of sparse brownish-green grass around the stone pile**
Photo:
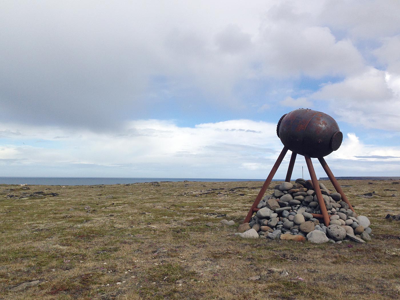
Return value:
M 371 242 L 234 236 L 262 182 L 0 185 L 0 299 L 400 298 L 400 185 L 339 182 Z

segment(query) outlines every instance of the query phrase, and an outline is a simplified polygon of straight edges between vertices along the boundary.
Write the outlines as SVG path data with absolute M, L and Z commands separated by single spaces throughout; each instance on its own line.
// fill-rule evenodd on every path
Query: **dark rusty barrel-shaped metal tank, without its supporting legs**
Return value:
M 307 108 L 282 116 L 276 132 L 289 150 L 314 158 L 338 150 L 343 140 L 339 126 L 331 116 Z

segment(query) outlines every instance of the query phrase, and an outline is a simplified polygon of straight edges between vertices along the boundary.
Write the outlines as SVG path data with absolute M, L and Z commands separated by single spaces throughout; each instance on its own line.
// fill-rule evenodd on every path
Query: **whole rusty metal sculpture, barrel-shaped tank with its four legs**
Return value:
M 276 134 L 278 135 L 278 138 L 280 138 L 282 144 L 284 144 L 284 148 L 282 149 L 282 152 L 280 153 L 278 159 L 272 167 L 270 174 L 265 180 L 264 185 L 258 193 L 256 200 L 244 219 L 244 223 L 249 222 L 254 212 L 258 211 L 257 206 L 264 196 L 266 189 L 270 185 L 272 178 L 274 177 L 288 150 L 292 151 L 292 156 L 290 158 L 285 181 L 290 182 L 290 176 L 292 176 L 296 155 L 303 155 L 306 158 L 308 171 L 310 172 L 312 184 L 314 186 L 318 204 L 321 210 L 321 214 L 313 214 L 314 217 L 322 218 L 325 225 L 329 225 L 329 215 L 326 210 L 325 202 L 322 198 L 322 193 L 319 188 L 319 182 L 314 171 L 314 166 L 311 162 L 311 157 L 318 158 L 336 192 L 342 196 L 342 200 L 346 202 L 349 208 L 354 212 L 354 208 L 344 194 L 335 176 L 332 174 L 328 164 L 324 160 L 324 156 L 327 156 L 333 151 L 338 150 L 342 144 L 343 134 L 340 132 L 336 121 L 331 116 L 323 112 L 310 110 L 308 108 L 300 108 L 298 110 L 293 110 L 288 114 L 284 114 L 280 118 L 278 125 L 276 126 Z

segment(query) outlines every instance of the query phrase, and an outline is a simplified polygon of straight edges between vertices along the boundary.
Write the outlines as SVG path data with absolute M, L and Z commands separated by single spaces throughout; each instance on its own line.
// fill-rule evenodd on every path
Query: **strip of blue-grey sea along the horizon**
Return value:
M 235 181 L 265 181 L 264 179 L 248 178 L 120 178 L 120 177 L 0 177 L 0 184 L 29 184 L 48 186 L 89 186 L 98 184 L 130 184 L 138 182 L 178 182 L 178 181 L 201 181 L 201 182 L 235 182 Z M 284 181 L 274 179 L 272 181 Z

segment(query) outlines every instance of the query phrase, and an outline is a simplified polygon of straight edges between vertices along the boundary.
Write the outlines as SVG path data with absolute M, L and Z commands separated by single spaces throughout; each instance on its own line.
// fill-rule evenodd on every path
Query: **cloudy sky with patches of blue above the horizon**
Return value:
M 400 176 L 399 15 L 398 0 L 2 1 L 1 176 L 266 178 L 298 108 L 343 132 L 335 176 Z

